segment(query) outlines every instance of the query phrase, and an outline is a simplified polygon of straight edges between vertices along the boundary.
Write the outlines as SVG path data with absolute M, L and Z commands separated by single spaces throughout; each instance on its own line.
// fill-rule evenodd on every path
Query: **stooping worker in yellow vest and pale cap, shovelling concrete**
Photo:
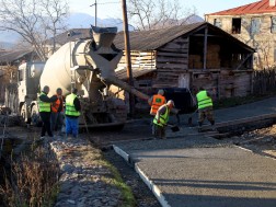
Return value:
M 159 107 L 153 119 L 154 137 L 165 139 L 165 127 L 169 122 L 171 110 L 174 107 L 174 102 L 169 100 L 165 104 Z

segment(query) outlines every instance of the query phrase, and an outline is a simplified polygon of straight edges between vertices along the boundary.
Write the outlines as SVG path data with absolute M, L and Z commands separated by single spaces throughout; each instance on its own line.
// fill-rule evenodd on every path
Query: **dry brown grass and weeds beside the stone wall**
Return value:
M 11 162 L 11 172 L 5 174 L 0 195 L 5 206 L 53 206 L 58 191 L 58 162 L 48 150 L 37 147 Z

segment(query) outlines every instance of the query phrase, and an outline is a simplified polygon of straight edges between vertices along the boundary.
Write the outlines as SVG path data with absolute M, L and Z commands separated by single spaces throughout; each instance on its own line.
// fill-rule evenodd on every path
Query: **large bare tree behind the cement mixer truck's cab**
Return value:
M 45 41 L 65 28 L 68 14 L 67 2 L 62 0 L 0 0 L 0 30 L 20 34 L 46 60 Z M 54 41 L 55 48 L 55 41 Z

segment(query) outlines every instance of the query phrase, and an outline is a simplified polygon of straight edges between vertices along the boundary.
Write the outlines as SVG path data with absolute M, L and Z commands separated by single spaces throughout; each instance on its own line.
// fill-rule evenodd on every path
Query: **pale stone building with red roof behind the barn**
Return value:
M 252 0 L 253 1 L 253 0 Z M 276 0 L 253 3 L 205 15 L 205 21 L 220 27 L 255 49 L 254 69 L 276 64 Z

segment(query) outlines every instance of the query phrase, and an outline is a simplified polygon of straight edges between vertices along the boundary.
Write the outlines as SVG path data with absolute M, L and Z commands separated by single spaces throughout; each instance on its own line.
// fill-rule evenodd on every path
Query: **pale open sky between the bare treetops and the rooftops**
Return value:
M 197 14 L 204 18 L 204 14 L 222 11 L 248 3 L 256 2 L 257 0 L 179 0 L 182 9 L 195 8 Z M 68 0 L 70 12 L 83 12 L 92 16 L 95 15 L 95 0 Z M 122 1 L 120 0 L 96 0 L 97 18 L 118 18 L 123 19 Z

